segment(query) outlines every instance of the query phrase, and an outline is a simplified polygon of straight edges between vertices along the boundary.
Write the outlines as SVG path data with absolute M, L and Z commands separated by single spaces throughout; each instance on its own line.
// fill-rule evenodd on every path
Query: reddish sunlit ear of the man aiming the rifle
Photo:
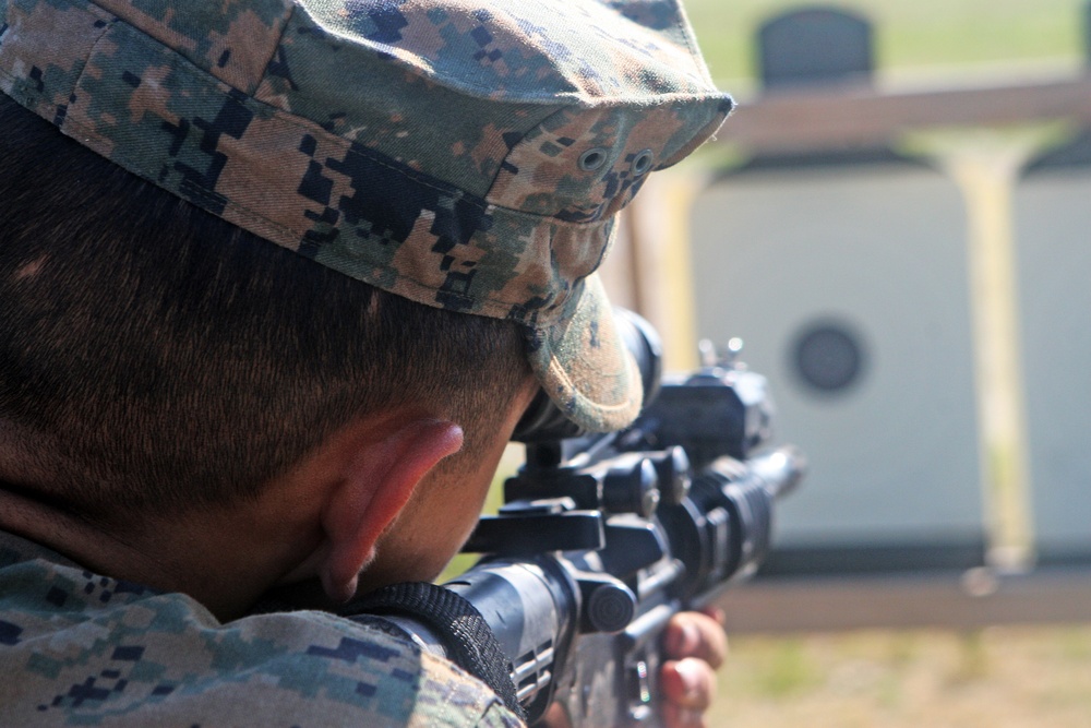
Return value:
M 461 428 L 454 422 L 418 419 L 365 438 L 346 454 L 340 481 L 322 512 L 327 550 L 320 574 L 331 599 L 352 598 L 357 576 L 371 560 L 380 535 L 417 484 L 461 444 Z

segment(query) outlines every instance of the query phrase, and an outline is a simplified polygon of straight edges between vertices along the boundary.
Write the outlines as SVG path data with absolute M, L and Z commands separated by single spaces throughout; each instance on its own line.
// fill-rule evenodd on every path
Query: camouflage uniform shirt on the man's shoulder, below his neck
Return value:
M 521 725 L 407 642 L 322 612 L 220 624 L 0 533 L 2 726 Z M 244 692 L 247 700 L 239 700 Z

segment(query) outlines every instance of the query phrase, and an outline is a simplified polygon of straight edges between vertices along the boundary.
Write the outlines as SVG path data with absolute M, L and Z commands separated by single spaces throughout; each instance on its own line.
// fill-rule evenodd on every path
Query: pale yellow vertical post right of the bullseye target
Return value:
M 1006 572 L 1034 562 L 1012 198 L 1023 166 L 1057 130 L 1034 124 L 918 132 L 908 143 L 947 170 L 966 202 L 987 558 Z

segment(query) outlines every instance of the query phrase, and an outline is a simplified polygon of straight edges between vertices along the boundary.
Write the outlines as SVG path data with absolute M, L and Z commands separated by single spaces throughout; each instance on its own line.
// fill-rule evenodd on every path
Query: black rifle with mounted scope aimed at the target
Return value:
M 639 419 L 588 435 L 540 393 L 516 430 L 526 464 L 464 548 L 488 556 L 444 585 L 497 637 L 531 724 L 556 702 L 576 727 L 655 725 L 668 620 L 757 569 L 774 499 L 804 470 L 794 447 L 759 452 L 765 378 L 707 360 L 662 381 L 650 324 L 622 311 L 619 325 L 644 379 Z M 454 657 L 425 624 L 387 619 Z

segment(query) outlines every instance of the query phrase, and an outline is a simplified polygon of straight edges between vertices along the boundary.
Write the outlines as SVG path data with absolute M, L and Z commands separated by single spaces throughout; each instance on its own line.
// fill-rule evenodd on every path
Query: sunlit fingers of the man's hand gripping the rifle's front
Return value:
M 659 673 L 667 728 L 703 728 L 716 697 L 716 669 L 728 656 L 723 612 L 681 612 L 663 632 L 668 660 Z

